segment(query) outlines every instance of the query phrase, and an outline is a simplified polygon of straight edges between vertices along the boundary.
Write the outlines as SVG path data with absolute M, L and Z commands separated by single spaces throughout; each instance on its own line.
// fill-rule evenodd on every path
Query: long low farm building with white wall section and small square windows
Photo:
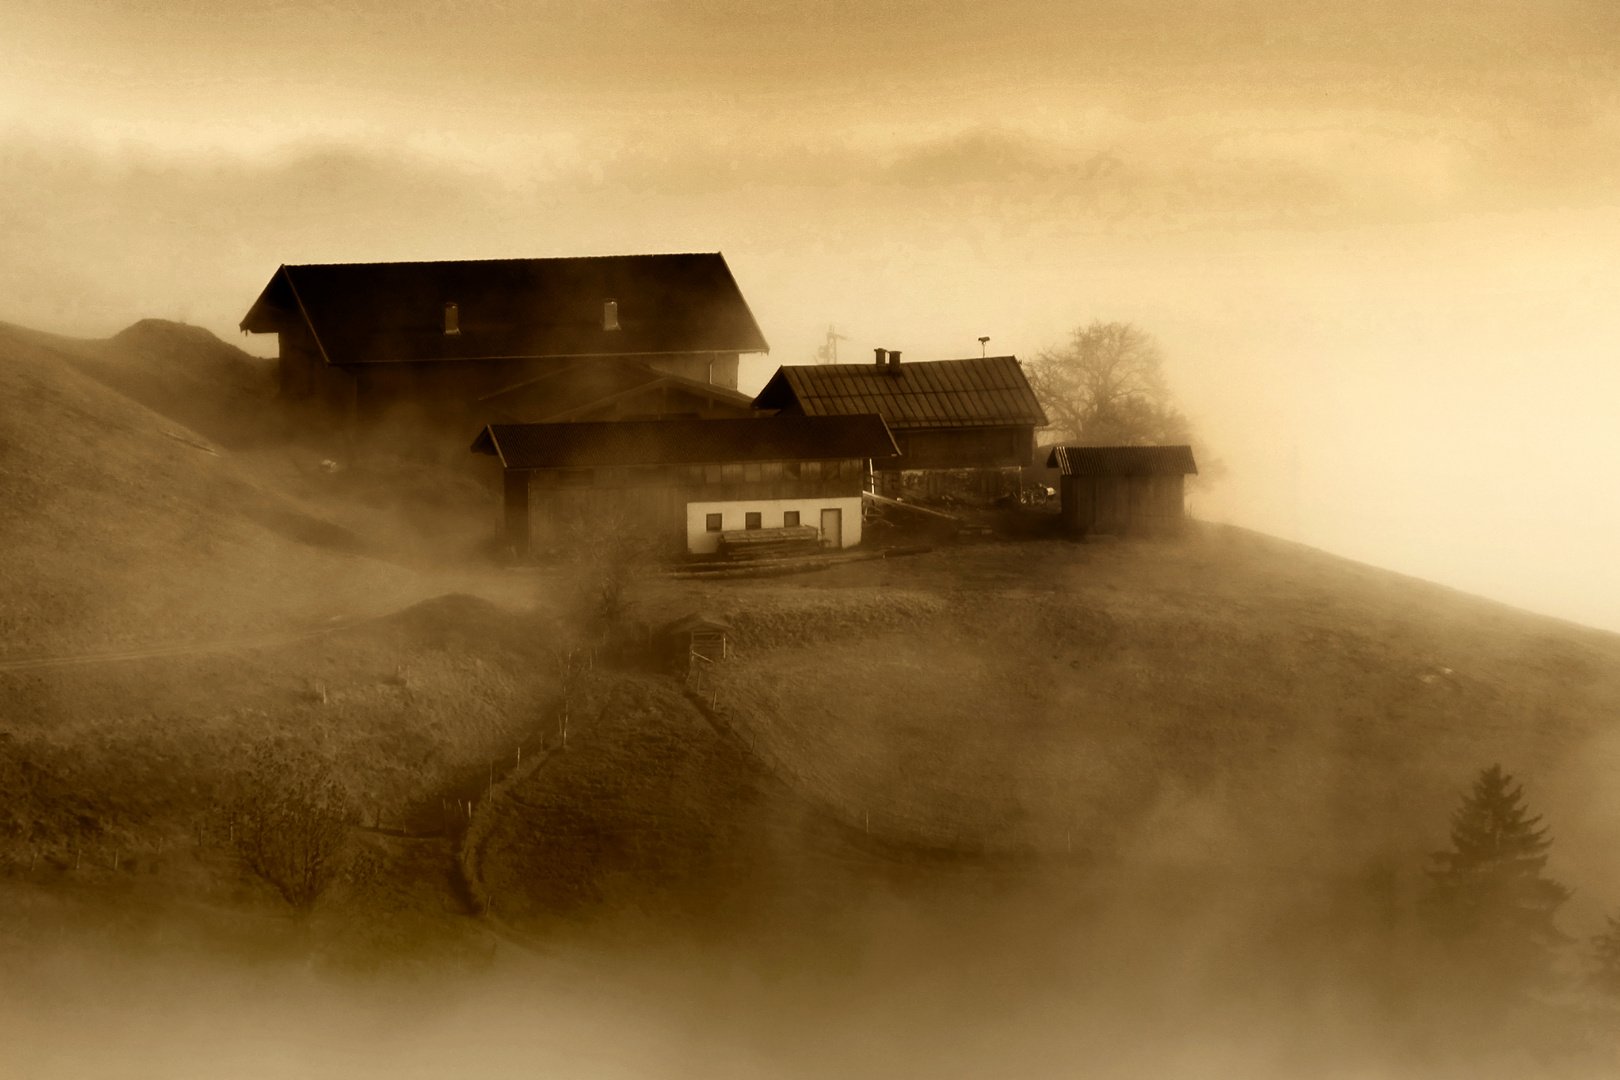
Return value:
M 739 529 L 850 547 L 873 463 L 899 453 L 870 415 L 489 424 L 473 450 L 501 463 L 518 554 L 582 528 L 688 554 Z

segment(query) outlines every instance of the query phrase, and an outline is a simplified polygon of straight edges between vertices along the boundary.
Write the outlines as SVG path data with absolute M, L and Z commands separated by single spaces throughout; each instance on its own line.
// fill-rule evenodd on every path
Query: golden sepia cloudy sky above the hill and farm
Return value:
M 724 251 L 770 358 L 1153 332 L 1199 513 L 1620 630 L 1612 3 L 0 5 L 0 319 Z

